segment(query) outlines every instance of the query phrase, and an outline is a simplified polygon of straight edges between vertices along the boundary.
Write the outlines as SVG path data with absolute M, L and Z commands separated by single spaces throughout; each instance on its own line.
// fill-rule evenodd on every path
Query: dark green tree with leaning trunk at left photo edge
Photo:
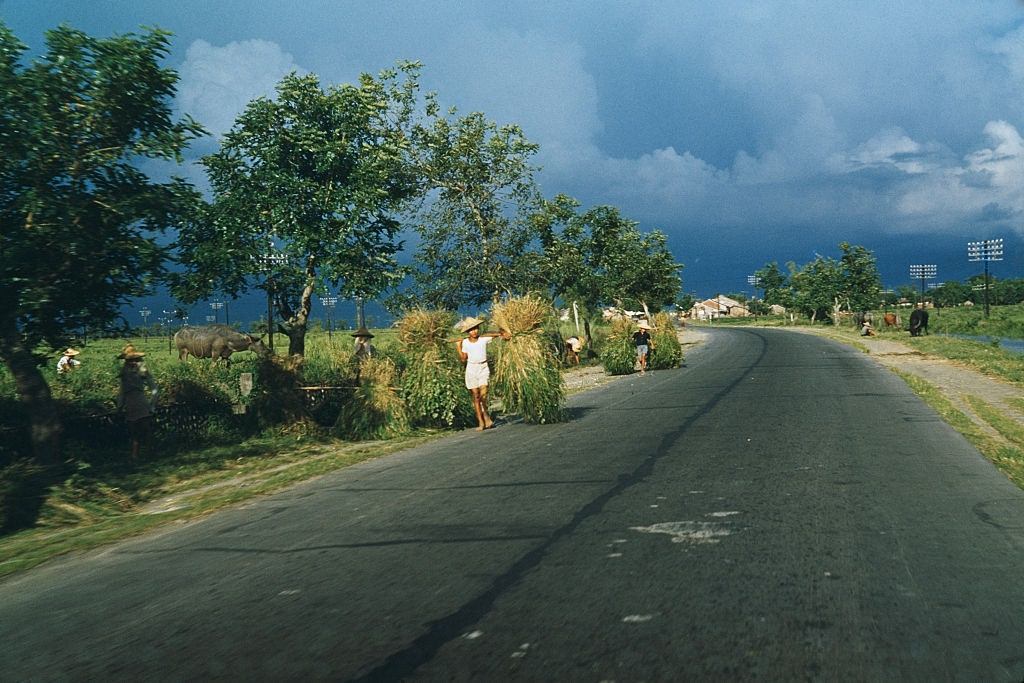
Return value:
M 0 359 L 30 417 L 36 459 L 59 460 L 61 424 L 41 351 L 110 325 L 162 272 L 156 238 L 198 201 L 140 159 L 180 161 L 202 129 L 175 122 L 168 34 L 90 37 L 69 27 L 26 47 L 0 24 Z

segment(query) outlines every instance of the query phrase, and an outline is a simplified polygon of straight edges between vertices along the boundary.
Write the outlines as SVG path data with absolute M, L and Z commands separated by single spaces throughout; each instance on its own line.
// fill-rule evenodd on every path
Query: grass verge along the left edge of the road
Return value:
M 37 526 L 0 538 L 0 578 L 169 522 L 197 519 L 450 433 L 423 431 L 355 443 L 297 442 L 295 436 L 279 435 L 200 450 L 135 469 L 112 465 L 80 471 L 48 492 Z M 151 509 L 166 499 L 174 499 L 167 509 Z

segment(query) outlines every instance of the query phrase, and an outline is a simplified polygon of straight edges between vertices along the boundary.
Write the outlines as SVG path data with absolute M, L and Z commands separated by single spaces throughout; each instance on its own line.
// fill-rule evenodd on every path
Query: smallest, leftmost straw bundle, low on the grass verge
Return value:
M 398 395 L 397 369 L 386 356 L 367 358 L 359 367 L 359 384 L 342 407 L 334 431 L 342 438 L 390 438 L 410 429 L 409 412 Z

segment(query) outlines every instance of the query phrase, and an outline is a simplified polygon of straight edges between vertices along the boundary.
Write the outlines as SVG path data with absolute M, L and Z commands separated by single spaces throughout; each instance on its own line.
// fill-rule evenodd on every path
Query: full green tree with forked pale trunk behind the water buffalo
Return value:
M 175 292 L 272 296 L 289 353 L 305 353 L 316 291 L 374 297 L 400 280 L 397 216 L 419 196 L 411 159 L 419 66 L 322 87 L 292 74 L 251 101 L 204 158 L 213 202 L 181 230 Z

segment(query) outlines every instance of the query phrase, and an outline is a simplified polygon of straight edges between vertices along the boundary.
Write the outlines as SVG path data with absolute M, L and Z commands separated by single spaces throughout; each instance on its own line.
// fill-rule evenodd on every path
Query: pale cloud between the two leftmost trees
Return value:
M 304 72 L 291 54 L 266 40 L 231 42 L 223 47 L 197 40 L 178 71 L 178 110 L 216 136 L 230 129 L 251 99 L 272 96 L 282 77 Z

